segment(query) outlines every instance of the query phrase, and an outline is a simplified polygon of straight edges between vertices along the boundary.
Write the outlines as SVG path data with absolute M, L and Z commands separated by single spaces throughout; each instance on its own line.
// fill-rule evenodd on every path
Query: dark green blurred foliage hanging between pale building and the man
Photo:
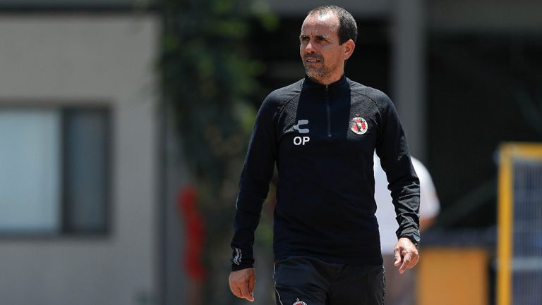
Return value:
M 162 21 L 164 99 L 175 111 L 184 156 L 199 189 L 209 254 L 231 239 L 237 182 L 255 117 L 249 100 L 258 92 L 255 77 L 263 64 L 250 58 L 250 25 L 259 21 L 272 29 L 277 18 L 260 0 L 162 0 Z M 220 263 L 227 265 L 224 257 Z M 213 258 L 205 259 L 212 268 Z

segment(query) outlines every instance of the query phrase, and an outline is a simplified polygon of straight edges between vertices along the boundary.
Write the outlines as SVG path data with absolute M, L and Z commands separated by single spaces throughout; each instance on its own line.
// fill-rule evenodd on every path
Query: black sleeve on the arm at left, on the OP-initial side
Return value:
M 235 204 L 234 237 L 231 240 L 231 270 L 234 271 L 251 268 L 254 264 L 254 231 L 260 222 L 262 205 L 275 168 L 276 114 L 277 102 L 270 94 L 256 116 L 241 172 Z

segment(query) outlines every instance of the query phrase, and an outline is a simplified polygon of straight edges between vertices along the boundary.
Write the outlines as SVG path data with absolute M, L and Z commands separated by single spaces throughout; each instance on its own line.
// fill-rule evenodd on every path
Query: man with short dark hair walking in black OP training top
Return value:
M 277 304 L 382 304 L 375 149 L 400 224 L 395 265 L 403 273 L 418 262 L 418 178 L 390 99 L 344 76 L 356 36 L 356 22 L 343 8 L 309 12 L 299 35 L 306 77 L 272 92 L 258 111 L 231 242 L 229 286 L 237 297 L 254 300 L 254 230 L 275 162 Z

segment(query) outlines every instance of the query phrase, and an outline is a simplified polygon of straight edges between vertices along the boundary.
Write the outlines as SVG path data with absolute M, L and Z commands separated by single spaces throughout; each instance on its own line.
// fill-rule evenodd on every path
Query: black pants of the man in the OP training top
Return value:
M 275 262 L 277 305 L 383 305 L 384 268 L 308 257 Z

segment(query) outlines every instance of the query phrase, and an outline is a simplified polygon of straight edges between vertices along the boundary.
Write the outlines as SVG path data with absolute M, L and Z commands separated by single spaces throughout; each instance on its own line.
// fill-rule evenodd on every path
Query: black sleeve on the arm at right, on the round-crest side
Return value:
M 381 115 L 376 154 L 386 172 L 399 229 L 397 238 L 420 236 L 420 182 L 409 154 L 406 136 L 392 101 L 385 94 L 378 97 Z

